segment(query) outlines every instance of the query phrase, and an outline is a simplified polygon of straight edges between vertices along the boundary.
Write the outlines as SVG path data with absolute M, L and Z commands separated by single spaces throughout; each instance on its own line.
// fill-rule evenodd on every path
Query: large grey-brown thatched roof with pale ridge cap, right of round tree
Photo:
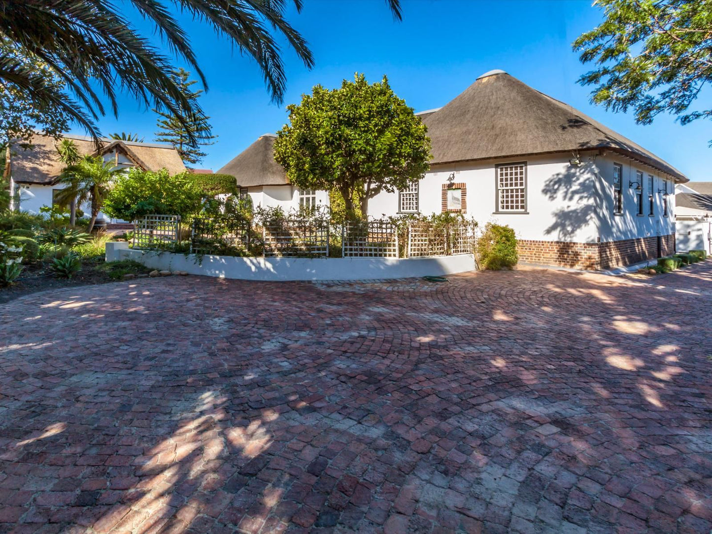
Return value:
M 502 70 L 481 75 L 443 108 L 421 117 L 432 140 L 431 163 L 605 149 L 687 182 L 640 145 Z

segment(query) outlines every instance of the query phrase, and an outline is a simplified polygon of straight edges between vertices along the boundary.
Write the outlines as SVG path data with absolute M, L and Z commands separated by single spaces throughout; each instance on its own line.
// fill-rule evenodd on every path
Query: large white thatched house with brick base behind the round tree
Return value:
M 674 187 L 689 180 L 570 105 L 492 70 L 418 115 L 431 168 L 407 191 L 378 194 L 371 216 L 451 211 L 507 224 L 526 263 L 608 268 L 674 252 Z M 327 201 L 290 186 L 273 142 L 263 135 L 219 172 L 237 177 L 255 204 Z

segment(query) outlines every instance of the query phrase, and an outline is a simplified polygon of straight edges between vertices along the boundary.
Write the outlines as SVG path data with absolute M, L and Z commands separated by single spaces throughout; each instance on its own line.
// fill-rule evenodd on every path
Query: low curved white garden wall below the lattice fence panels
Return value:
M 198 263 L 194 256 L 135 250 L 120 241 L 106 244 L 106 261 L 125 259 L 159 271 L 262 281 L 379 280 L 442 276 L 475 268 L 472 254 L 428 258 L 237 258 L 206 254 Z

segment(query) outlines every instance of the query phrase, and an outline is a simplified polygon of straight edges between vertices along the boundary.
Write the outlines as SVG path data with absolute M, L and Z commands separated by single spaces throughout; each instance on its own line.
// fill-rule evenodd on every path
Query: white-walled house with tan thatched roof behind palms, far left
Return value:
M 105 162 L 113 162 L 115 167 L 138 167 L 157 171 L 168 169 L 171 174 L 183 172 L 185 166 L 172 145 L 164 143 L 144 143 L 101 138 L 97 149 L 90 137 L 64 135 L 64 139 L 75 142 L 80 155 L 103 155 Z M 56 192 L 63 189 L 59 175 L 64 164 L 59 160 L 58 141 L 46 135 L 35 135 L 32 148 L 23 150 L 16 147 L 11 159 L 11 189 L 20 190 L 20 209 L 38 213 L 42 206 L 52 206 Z M 88 206 L 82 206 L 88 212 Z M 103 214 L 99 215 L 103 217 Z

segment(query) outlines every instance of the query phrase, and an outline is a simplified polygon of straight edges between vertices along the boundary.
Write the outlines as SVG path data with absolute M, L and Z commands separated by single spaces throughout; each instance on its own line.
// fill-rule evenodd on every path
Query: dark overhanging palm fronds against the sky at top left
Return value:
M 302 0 L 293 0 L 297 11 Z M 400 19 L 399 0 L 386 0 Z M 129 5 L 127 5 L 129 4 Z M 126 91 L 147 106 L 176 115 L 186 125 L 201 116 L 195 100 L 181 92 L 171 73 L 168 55 L 157 51 L 122 13 L 132 9 L 153 26 L 171 56 L 182 59 L 207 88 L 188 32 L 172 14 L 174 8 L 212 26 L 262 70 L 272 99 L 281 103 L 286 78 L 281 57 L 281 38 L 294 49 L 307 68 L 314 60 L 306 41 L 285 19 L 286 0 L 0 0 L 0 35 L 25 53 L 46 63 L 63 80 L 83 110 L 51 79 L 26 68 L 17 58 L 0 57 L 0 86 L 11 83 L 31 95 L 36 105 L 53 105 L 83 125 L 98 142 L 94 120 L 105 114 L 99 92 L 117 114 L 117 91 Z M 151 32 L 152 33 L 152 32 Z

